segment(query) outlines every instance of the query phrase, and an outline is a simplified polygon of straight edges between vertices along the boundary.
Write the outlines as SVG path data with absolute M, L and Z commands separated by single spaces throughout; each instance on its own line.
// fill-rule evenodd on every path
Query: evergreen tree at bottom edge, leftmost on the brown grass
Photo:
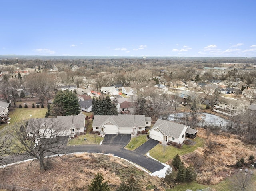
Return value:
M 103 182 L 102 173 L 97 173 L 94 179 L 92 179 L 91 184 L 88 186 L 88 191 L 110 191 L 110 186 L 108 182 Z

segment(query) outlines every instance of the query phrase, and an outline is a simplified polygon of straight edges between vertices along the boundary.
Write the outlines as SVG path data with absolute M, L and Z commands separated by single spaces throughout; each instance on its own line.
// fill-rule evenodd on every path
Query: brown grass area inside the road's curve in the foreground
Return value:
M 54 158 L 49 170 L 41 171 L 39 164 L 35 161 L 0 169 L 0 184 L 16 185 L 38 191 L 44 187 L 51 191 L 75 191 L 87 190 L 88 184 L 94 175 L 101 172 L 104 180 L 108 181 L 112 190 L 126 181 L 134 174 L 143 190 L 154 190 L 160 188 L 160 179 L 153 177 L 138 169 L 134 165 L 114 156 L 102 154 L 74 154 Z M 146 189 L 147 188 L 147 189 Z

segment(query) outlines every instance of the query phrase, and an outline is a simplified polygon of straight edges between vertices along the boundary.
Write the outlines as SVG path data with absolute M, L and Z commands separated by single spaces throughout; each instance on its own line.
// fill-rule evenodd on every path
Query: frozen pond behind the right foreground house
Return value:
M 171 114 L 168 117 L 168 121 L 180 121 L 180 120 L 184 120 L 184 122 L 186 122 L 186 117 L 190 118 L 190 113 L 176 113 L 176 114 Z M 213 114 L 209 114 L 209 113 L 199 113 L 198 116 L 198 125 L 199 126 L 224 126 L 226 124 L 228 124 L 229 121 L 213 115 Z

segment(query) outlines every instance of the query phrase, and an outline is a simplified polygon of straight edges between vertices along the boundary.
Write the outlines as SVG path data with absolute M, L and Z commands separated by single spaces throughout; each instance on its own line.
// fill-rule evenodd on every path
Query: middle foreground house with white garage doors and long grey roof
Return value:
M 150 124 L 151 117 L 144 115 L 95 115 L 92 129 L 100 134 L 137 134 Z

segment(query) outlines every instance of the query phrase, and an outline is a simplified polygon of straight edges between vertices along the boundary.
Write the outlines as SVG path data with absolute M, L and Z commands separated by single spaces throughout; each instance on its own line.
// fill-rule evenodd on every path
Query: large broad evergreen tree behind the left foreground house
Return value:
M 53 116 L 78 115 L 80 107 L 76 94 L 72 91 L 58 91 L 52 103 L 51 114 Z

